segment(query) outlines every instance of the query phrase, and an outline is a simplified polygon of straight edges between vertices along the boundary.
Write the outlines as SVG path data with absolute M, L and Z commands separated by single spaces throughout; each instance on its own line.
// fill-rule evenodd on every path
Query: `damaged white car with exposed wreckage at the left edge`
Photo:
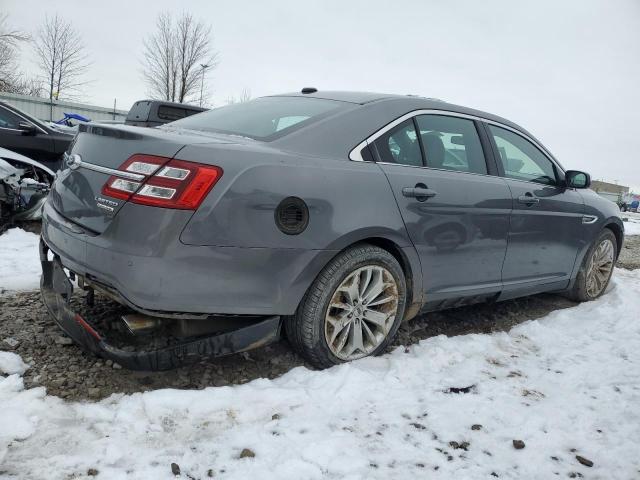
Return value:
M 40 219 L 54 177 L 41 163 L 0 148 L 0 232 L 16 221 Z

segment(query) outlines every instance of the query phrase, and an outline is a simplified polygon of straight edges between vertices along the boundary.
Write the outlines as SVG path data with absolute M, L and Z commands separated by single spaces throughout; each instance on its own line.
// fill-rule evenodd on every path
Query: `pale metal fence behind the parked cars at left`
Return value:
M 48 98 L 32 97 L 29 95 L 17 95 L 14 93 L 0 92 L 0 101 L 7 102 L 29 115 L 43 121 L 56 121 L 64 116 L 64 113 L 79 113 L 91 120 L 122 120 L 127 116 L 126 110 L 96 107 L 83 103 L 67 102 L 64 100 L 49 100 Z

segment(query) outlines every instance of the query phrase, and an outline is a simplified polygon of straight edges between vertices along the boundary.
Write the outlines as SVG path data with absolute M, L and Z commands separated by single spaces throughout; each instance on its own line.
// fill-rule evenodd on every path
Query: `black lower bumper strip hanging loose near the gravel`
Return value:
M 169 370 L 206 358 L 251 350 L 280 337 L 280 317 L 272 316 L 231 332 L 187 339 L 162 349 L 135 352 L 122 350 L 111 345 L 107 338 L 73 311 L 70 304 L 73 293 L 71 280 L 64 271 L 60 258 L 54 254 L 53 259 L 49 260 L 48 252 L 48 246 L 40 240 L 40 291 L 47 310 L 58 326 L 83 349 L 117 362 L 124 368 Z

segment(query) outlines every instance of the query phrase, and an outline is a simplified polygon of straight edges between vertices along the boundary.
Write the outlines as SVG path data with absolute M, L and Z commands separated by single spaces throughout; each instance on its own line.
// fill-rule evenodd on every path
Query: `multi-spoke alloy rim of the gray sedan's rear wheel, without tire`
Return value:
M 331 353 L 341 360 L 371 354 L 387 338 L 398 311 L 398 285 L 378 265 L 358 268 L 333 294 L 324 322 Z

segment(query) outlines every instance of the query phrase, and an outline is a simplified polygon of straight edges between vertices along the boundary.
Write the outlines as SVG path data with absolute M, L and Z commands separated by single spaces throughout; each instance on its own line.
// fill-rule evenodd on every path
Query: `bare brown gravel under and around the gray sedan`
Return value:
M 640 268 L 640 237 L 627 239 L 619 266 Z M 118 304 L 96 296 L 102 316 L 121 313 Z M 554 294 L 480 304 L 429 313 L 403 324 L 390 349 L 408 346 L 436 335 L 466 335 L 508 331 L 527 320 L 575 305 Z M 110 360 L 84 353 L 69 342 L 50 319 L 39 292 L 0 296 L 0 350 L 19 354 L 30 366 L 25 386 L 45 386 L 49 394 L 69 400 L 96 401 L 113 393 L 159 388 L 202 389 L 242 384 L 256 378 L 275 378 L 304 361 L 286 342 L 168 372 L 132 372 Z M 307 365 L 307 367 L 311 368 Z

